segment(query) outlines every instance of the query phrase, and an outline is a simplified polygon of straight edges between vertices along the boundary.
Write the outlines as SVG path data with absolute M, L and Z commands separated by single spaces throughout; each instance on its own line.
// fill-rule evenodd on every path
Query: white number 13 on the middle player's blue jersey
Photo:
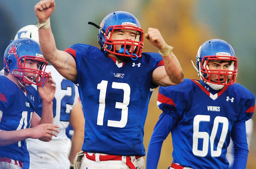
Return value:
M 100 90 L 97 125 L 103 125 L 107 83 L 108 83 L 108 81 L 102 80 L 97 86 L 97 89 Z M 116 108 L 117 109 L 122 109 L 121 120 L 120 121 L 107 120 L 107 126 L 123 128 L 127 124 L 128 105 L 130 103 L 131 89 L 130 89 L 129 84 L 119 83 L 119 82 L 113 82 L 112 83 L 112 88 L 123 90 L 123 92 L 124 92 L 124 97 L 123 98 L 124 99 L 123 99 L 123 102 L 116 102 Z

